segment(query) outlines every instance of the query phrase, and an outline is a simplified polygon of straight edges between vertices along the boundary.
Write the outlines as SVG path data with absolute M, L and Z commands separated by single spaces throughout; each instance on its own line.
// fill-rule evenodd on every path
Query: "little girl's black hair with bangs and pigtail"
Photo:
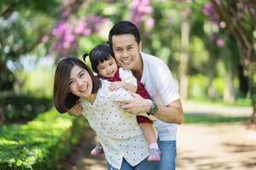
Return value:
M 97 70 L 97 66 L 113 57 L 113 51 L 107 44 L 99 44 L 96 45 L 95 48 L 92 48 L 90 50 L 90 54 L 84 54 L 83 58 L 85 61 L 85 58 L 89 55 L 91 69 L 95 71 L 96 73 L 99 73 Z

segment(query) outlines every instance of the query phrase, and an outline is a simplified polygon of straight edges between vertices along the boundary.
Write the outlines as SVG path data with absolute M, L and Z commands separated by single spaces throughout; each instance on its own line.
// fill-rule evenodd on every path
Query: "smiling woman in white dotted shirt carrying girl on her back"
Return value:
M 63 113 L 81 102 L 82 114 L 102 144 L 108 169 L 156 169 L 156 162 L 147 161 L 148 144 L 136 116 L 115 102 L 131 99 L 131 94 L 124 88 L 110 92 L 109 86 L 110 82 L 94 77 L 80 59 L 61 59 L 55 70 L 55 108 Z

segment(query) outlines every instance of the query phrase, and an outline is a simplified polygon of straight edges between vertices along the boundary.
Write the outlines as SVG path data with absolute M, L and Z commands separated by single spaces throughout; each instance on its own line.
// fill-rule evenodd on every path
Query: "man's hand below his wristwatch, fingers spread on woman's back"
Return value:
M 139 94 L 128 91 L 134 99 L 118 99 L 117 102 L 126 111 L 134 115 L 140 115 L 150 111 L 152 103 L 143 99 Z

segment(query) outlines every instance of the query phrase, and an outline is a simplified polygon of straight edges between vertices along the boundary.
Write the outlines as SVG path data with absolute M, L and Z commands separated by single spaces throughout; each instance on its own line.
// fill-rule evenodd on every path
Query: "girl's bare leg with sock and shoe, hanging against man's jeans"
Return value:
M 143 122 L 139 123 L 140 127 L 143 129 L 143 134 L 149 144 L 149 156 L 148 161 L 160 161 L 160 150 L 158 148 L 156 133 L 152 123 Z

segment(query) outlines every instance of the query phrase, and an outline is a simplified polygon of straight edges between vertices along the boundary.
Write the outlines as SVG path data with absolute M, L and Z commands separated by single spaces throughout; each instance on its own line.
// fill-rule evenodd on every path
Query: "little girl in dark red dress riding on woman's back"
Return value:
M 88 54 L 84 54 L 85 57 Z M 130 70 L 125 70 L 122 67 L 118 67 L 115 59 L 113 58 L 112 49 L 105 44 L 99 44 L 90 51 L 90 63 L 91 68 L 95 71 L 98 77 L 102 79 L 108 79 L 109 82 L 113 82 L 110 85 L 110 90 L 114 91 L 119 88 L 125 88 L 132 92 L 137 92 L 144 99 L 149 99 L 150 96 L 143 84 L 137 82 L 137 79 L 132 76 Z M 160 161 L 160 150 L 156 141 L 156 134 L 152 122 L 145 116 L 137 116 L 137 122 L 143 129 L 143 134 L 149 144 L 149 156 L 148 161 Z M 102 153 L 102 147 L 100 144 L 96 145 L 96 148 L 91 151 L 92 155 L 100 155 Z

